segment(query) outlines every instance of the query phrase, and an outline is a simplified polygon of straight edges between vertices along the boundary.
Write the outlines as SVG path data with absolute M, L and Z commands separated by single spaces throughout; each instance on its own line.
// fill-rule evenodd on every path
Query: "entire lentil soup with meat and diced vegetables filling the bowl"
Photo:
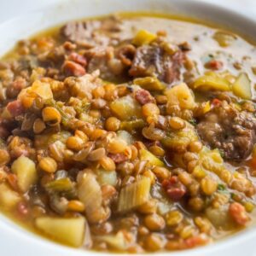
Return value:
M 69 22 L 0 63 L 0 208 L 71 247 L 211 243 L 255 216 L 256 49 L 160 16 Z

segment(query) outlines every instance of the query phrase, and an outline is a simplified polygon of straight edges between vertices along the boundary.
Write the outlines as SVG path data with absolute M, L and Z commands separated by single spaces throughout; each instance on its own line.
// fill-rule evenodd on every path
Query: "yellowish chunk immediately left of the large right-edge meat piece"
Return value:
M 167 134 L 165 138 L 161 140 L 161 143 L 166 148 L 171 148 L 173 151 L 184 152 L 189 143 L 198 141 L 194 126 L 186 123 L 186 126 L 182 130 L 172 131 Z

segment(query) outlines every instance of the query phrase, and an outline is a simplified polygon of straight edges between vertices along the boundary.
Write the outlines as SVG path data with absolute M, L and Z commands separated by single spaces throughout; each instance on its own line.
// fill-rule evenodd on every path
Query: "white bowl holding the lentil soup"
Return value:
M 116 11 L 155 11 L 178 15 L 189 15 L 213 24 L 230 27 L 236 32 L 251 37 L 256 41 L 256 22 L 252 18 L 217 5 L 197 2 L 195 0 L 69 0 L 61 4 L 16 17 L 0 25 L 0 55 L 11 49 L 15 42 L 27 38 L 50 26 L 67 20 L 81 19 L 94 15 L 106 15 Z M 256 255 L 256 229 L 250 227 L 235 236 L 218 241 L 206 247 L 189 251 L 174 252 L 173 256 L 247 256 Z M 102 253 L 85 252 L 61 246 L 36 236 L 6 217 L 0 215 L 0 255 L 3 256 L 79 256 L 99 255 Z M 103 253 L 107 255 L 108 253 Z M 157 253 L 157 255 L 166 253 Z M 170 253 L 171 254 L 171 253 Z M 122 254 L 124 255 L 124 254 Z

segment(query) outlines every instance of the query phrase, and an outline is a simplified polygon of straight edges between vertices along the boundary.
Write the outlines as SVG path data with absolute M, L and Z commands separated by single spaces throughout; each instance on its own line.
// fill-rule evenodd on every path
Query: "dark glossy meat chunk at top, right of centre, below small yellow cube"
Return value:
M 144 45 L 137 49 L 129 73 L 133 77 L 156 75 L 161 81 L 172 84 L 179 78 L 183 60 L 181 50 L 170 55 L 160 46 Z

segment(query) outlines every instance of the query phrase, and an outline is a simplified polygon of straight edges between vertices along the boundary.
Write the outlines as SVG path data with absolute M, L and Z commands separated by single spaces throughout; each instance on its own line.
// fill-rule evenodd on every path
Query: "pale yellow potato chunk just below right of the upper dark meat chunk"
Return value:
M 195 97 L 187 84 L 178 84 L 165 91 L 168 105 L 178 105 L 183 109 L 195 108 Z

